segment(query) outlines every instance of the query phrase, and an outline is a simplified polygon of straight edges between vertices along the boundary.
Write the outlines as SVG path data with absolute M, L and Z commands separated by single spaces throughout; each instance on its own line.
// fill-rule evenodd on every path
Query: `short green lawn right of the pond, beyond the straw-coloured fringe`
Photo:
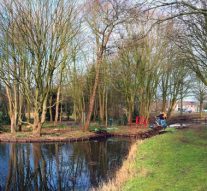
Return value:
M 207 190 L 207 127 L 167 130 L 138 146 L 136 175 L 122 190 Z

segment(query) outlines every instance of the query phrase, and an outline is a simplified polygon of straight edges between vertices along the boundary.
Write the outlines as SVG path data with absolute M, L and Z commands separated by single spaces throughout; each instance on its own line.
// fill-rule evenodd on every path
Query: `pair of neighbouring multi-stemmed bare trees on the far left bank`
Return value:
M 54 74 L 58 70 L 60 86 L 70 43 L 78 31 L 76 10 L 72 2 L 62 0 L 1 1 L 0 9 L 0 73 L 11 132 L 21 127 L 26 105 L 27 113 L 33 113 L 33 133 L 40 135 Z

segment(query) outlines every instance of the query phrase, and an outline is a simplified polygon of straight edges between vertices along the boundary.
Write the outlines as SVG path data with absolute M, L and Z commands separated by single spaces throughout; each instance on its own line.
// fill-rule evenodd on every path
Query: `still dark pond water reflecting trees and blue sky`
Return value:
M 0 191 L 90 190 L 112 178 L 131 141 L 0 144 Z

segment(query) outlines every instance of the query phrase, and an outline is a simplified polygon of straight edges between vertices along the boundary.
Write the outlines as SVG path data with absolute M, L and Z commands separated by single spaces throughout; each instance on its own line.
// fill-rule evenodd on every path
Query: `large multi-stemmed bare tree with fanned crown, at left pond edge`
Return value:
M 63 0 L 2 1 L 0 16 L 1 30 L 7 37 L 5 40 L 8 39 L 15 48 L 15 51 L 8 52 L 2 46 L 5 57 L 8 57 L 9 62 L 13 59 L 14 63 L 24 63 L 24 69 L 28 73 L 18 80 L 32 106 L 33 133 L 39 136 L 45 122 L 54 71 L 65 62 L 64 51 L 75 35 L 75 7 L 71 1 Z M 11 20 L 12 26 L 8 24 Z M 19 56 L 18 59 L 16 55 Z M 8 61 L 6 65 L 10 64 Z M 15 66 L 13 71 L 16 68 Z M 8 76 L 16 80 L 11 72 Z

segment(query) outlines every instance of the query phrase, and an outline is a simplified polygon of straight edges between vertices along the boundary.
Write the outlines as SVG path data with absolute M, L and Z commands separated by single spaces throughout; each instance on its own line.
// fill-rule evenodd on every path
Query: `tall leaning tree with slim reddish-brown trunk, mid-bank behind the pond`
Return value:
M 96 44 L 96 74 L 93 85 L 92 94 L 90 96 L 89 108 L 84 129 L 89 128 L 91 114 L 94 108 L 96 90 L 99 84 L 100 67 L 103 62 L 107 45 L 110 41 L 114 29 L 127 20 L 127 9 L 125 1 L 88 1 L 86 5 L 85 17 L 92 34 L 94 35 Z

